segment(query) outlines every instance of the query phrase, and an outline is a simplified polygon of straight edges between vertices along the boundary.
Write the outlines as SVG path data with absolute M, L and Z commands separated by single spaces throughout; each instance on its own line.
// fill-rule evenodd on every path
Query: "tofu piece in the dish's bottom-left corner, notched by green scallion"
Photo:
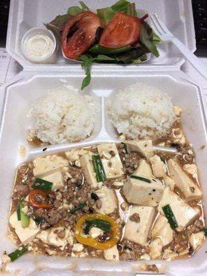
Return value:
M 19 237 L 20 241 L 26 245 L 32 242 L 32 239 L 39 233 L 40 229 L 35 224 L 35 221 L 30 218 L 30 224 L 26 228 L 21 227 L 21 220 L 17 219 L 17 212 L 10 215 L 10 225 L 14 228 L 15 233 Z

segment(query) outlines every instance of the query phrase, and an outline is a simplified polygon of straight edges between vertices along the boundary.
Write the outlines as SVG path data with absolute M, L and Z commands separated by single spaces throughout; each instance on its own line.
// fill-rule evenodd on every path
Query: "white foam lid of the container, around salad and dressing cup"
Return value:
M 117 0 L 86 0 L 89 8 L 96 10 L 111 6 Z M 195 32 L 193 28 L 193 12 L 190 0 L 135 0 L 136 7 L 139 10 L 147 10 L 148 13 L 156 12 L 169 30 L 175 34 L 175 37 L 180 39 L 190 50 L 195 51 Z M 81 65 L 75 61 L 64 59 L 59 49 L 57 62 L 50 65 L 35 65 L 30 63 L 21 52 L 21 39 L 23 34 L 30 28 L 43 26 L 43 23 L 48 23 L 58 14 L 64 14 L 69 6 L 79 5 L 77 0 L 61 1 L 61 0 L 11 0 L 10 1 L 10 17 L 8 22 L 8 35 L 6 50 L 14 59 L 19 61 L 23 68 L 31 70 L 34 67 L 48 68 L 64 67 L 66 70 L 79 68 Z M 141 15 L 141 14 L 140 14 Z M 180 52 L 170 43 L 160 43 L 160 57 L 152 57 L 149 61 L 142 63 L 139 66 L 127 66 L 137 70 L 138 67 L 146 68 L 177 66 L 178 68 L 184 63 L 184 59 Z M 110 68 L 121 68 L 126 70 L 126 66 L 115 64 L 94 64 L 94 70 L 109 70 Z

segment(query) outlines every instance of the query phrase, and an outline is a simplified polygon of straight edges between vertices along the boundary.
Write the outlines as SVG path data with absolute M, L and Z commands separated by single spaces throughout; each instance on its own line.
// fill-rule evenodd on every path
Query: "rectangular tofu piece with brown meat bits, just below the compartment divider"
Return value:
M 124 175 L 124 168 L 115 143 L 97 146 L 101 163 L 107 179 L 114 179 Z

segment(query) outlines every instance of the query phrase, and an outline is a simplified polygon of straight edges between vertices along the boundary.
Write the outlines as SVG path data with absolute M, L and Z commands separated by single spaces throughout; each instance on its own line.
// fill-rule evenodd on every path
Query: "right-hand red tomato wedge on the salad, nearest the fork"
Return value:
M 121 48 L 138 40 L 141 31 L 139 18 L 117 12 L 101 34 L 99 45 L 106 48 Z

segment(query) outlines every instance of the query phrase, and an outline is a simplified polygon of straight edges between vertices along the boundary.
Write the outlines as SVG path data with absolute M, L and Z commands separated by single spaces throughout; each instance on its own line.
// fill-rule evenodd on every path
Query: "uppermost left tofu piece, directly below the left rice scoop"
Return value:
M 57 155 L 48 155 L 47 157 L 37 157 L 33 161 L 34 177 L 46 177 L 54 172 L 66 172 L 68 170 L 68 161 Z

